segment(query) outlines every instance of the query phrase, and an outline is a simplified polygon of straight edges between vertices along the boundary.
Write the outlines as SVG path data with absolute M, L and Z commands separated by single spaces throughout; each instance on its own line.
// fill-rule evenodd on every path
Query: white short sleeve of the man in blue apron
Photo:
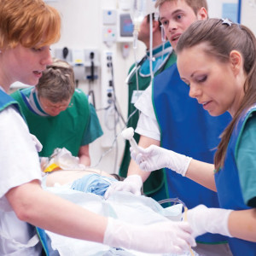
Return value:
M 160 128 L 154 114 L 152 103 L 152 84 L 138 98 L 135 107 L 140 111 L 140 117 L 135 131 L 140 135 L 160 141 Z

